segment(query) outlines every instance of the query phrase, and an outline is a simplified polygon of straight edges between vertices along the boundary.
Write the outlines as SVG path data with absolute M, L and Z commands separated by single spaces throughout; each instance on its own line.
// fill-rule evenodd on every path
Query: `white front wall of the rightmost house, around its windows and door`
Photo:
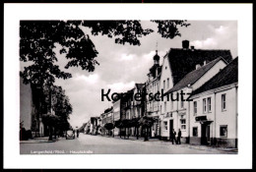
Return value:
M 219 88 L 220 89 L 220 88 Z M 226 110 L 222 109 L 222 94 L 226 95 Z M 212 111 L 203 112 L 203 99 L 211 97 Z M 194 114 L 194 101 L 197 101 L 197 114 Z M 213 139 L 212 144 L 220 146 L 235 147 L 237 146 L 237 90 L 235 86 L 225 88 L 216 93 L 205 92 L 198 98 L 194 98 L 190 102 L 190 143 L 198 143 L 201 141 L 201 124 L 195 121 L 196 116 L 206 116 L 210 124 L 210 138 Z M 227 126 L 227 137 L 220 136 L 220 127 Z M 198 137 L 193 137 L 193 127 L 198 129 Z

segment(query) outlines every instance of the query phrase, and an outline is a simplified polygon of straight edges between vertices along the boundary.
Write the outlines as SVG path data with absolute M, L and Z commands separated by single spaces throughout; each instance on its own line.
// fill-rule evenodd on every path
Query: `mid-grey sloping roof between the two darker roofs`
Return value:
M 188 86 L 188 85 L 193 85 L 204 74 L 206 74 L 213 66 L 215 66 L 215 64 L 217 64 L 220 60 L 224 61 L 224 59 L 222 57 L 219 57 L 219 58 L 213 60 L 212 62 L 206 64 L 205 66 L 202 66 L 199 69 L 188 73 L 182 80 L 180 80 L 175 86 L 170 88 L 166 93 L 170 93 L 170 92 L 179 90 L 179 89 L 181 89 L 181 88 L 183 88 L 185 86 Z

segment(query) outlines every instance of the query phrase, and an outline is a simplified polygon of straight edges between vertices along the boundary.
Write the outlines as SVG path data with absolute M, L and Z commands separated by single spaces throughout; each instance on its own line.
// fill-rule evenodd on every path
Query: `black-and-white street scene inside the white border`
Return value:
M 238 154 L 237 21 L 19 27 L 20 154 Z

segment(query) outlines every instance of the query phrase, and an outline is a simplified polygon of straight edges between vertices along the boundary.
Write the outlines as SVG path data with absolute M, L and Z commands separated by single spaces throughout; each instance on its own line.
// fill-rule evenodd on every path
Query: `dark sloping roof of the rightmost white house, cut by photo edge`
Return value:
M 234 83 L 238 83 L 238 57 L 224 67 L 220 73 L 218 73 L 207 83 L 194 90 L 192 94 L 198 94 L 210 89 L 227 86 Z

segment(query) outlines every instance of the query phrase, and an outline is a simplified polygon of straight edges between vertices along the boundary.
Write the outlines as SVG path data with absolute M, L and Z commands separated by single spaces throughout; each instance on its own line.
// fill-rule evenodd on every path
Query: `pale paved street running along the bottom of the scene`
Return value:
M 119 137 L 108 138 L 80 134 L 75 140 L 60 138 L 55 143 L 20 143 L 21 154 L 51 154 L 51 153 L 94 153 L 94 154 L 220 154 L 237 153 L 226 149 L 204 145 L 171 144 L 151 139 L 124 140 Z

